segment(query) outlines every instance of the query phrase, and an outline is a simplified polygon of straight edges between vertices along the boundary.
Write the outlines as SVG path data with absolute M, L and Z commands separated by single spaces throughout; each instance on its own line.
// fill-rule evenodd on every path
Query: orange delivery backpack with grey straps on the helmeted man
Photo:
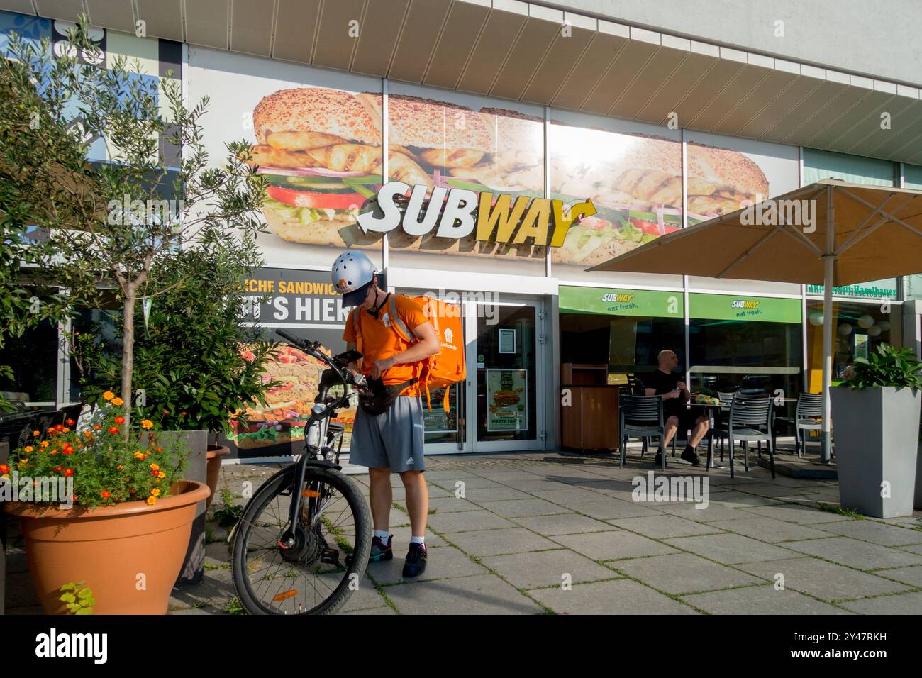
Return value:
M 446 303 L 428 296 L 412 297 L 419 303 L 422 312 L 429 318 L 435 328 L 435 336 L 439 339 L 441 353 L 431 355 L 420 363 L 420 373 L 417 381 L 420 388 L 426 391 L 426 405 L 432 410 L 429 396 L 430 389 L 445 389 L 445 398 L 442 407 L 448 411 L 448 393 L 452 384 L 463 381 L 467 377 L 467 366 L 464 360 L 464 330 L 461 327 L 461 306 L 456 303 Z M 397 315 L 396 295 L 391 294 L 390 299 L 391 327 L 397 336 L 408 343 L 415 344 L 419 339 L 407 324 Z M 355 327 L 355 336 L 359 351 L 361 351 L 361 334 L 359 330 L 359 315 L 352 314 L 352 324 Z

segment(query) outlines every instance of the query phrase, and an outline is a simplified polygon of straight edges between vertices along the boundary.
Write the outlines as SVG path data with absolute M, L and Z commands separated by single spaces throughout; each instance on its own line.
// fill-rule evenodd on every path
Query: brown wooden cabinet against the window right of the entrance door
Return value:
M 576 449 L 618 448 L 618 387 L 563 385 L 570 405 L 561 404 L 561 445 Z

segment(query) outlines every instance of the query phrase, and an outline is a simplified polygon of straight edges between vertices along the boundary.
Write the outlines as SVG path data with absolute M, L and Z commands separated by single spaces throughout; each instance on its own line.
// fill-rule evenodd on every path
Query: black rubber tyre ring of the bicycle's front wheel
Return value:
M 248 553 L 247 545 L 254 527 L 254 522 L 273 499 L 278 496 L 284 496 L 284 506 L 287 508 L 290 495 L 285 496 L 283 493 L 289 490 L 294 482 L 294 473 L 295 466 L 291 465 L 286 469 L 279 470 L 278 473 L 273 475 L 259 487 L 253 498 L 243 510 L 238 529 L 234 534 L 231 557 L 233 586 L 243 609 L 250 614 L 281 613 L 270 610 L 254 596 L 253 589 L 250 586 L 246 562 Z M 298 613 L 333 614 L 336 613 L 352 595 L 353 590 L 349 588 L 349 582 L 356 579 L 361 582 L 362 578 L 365 576 L 369 554 L 372 550 L 371 510 L 356 483 L 352 481 L 349 476 L 338 470 L 309 466 L 305 470 L 304 480 L 305 483 L 317 481 L 325 482 L 337 489 L 348 503 L 355 520 L 355 545 L 351 554 L 352 557 L 349 559 L 349 565 L 346 565 L 346 575 L 342 578 L 342 581 L 339 582 L 337 589 L 335 589 L 332 595 L 326 598 L 325 601 L 310 610 Z M 352 575 L 356 575 L 357 577 L 352 577 Z

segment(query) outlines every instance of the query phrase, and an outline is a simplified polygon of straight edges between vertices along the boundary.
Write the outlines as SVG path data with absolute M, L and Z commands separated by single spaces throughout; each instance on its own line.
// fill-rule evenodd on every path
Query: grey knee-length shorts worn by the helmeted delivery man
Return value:
M 352 424 L 349 463 L 370 469 L 426 470 L 422 459 L 422 400 L 398 396 L 382 414 L 359 408 Z

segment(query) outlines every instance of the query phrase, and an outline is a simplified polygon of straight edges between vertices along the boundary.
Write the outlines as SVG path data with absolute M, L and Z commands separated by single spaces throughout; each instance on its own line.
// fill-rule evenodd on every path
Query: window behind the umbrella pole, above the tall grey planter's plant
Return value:
M 833 302 L 833 383 L 842 380 L 845 367 L 867 358 L 882 342 L 903 343 L 900 304 Z M 822 301 L 807 302 L 807 353 L 810 392 L 822 388 Z

